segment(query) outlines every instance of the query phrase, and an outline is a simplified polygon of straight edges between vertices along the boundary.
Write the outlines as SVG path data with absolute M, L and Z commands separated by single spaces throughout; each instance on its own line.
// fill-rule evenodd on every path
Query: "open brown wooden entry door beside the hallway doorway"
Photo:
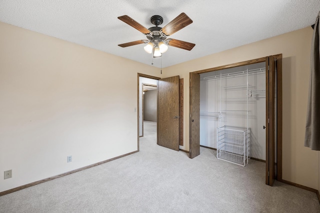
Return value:
M 179 150 L 179 76 L 158 80 L 157 144 Z

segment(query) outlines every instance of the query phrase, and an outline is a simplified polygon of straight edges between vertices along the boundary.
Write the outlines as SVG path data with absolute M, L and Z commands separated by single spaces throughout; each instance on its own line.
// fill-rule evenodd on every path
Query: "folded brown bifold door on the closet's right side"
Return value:
M 271 185 L 275 179 L 275 142 L 276 142 L 276 73 L 275 57 L 265 58 L 265 80 L 266 80 L 266 155 L 265 155 L 265 184 Z

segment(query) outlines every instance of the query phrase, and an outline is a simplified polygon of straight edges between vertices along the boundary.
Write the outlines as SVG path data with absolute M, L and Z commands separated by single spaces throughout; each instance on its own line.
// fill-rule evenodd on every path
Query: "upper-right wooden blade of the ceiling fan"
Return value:
M 173 20 L 171 20 L 168 24 L 166 24 L 162 28 L 162 32 L 166 35 L 171 35 L 174 32 L 189 25 L 190 23 L 192 23 L 192 20 L 184 12 L 182 12 L 181 14 L 176 16 Z

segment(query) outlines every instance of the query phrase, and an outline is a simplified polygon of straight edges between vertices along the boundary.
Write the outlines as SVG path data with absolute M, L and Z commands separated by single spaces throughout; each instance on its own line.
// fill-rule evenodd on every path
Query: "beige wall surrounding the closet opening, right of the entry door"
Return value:
M 317 189 L 318 153 L 303 146 L 311 37 L 312 28 L 306 27 L 163 68 L 163 77 L 180 75 L 189 79 L 192 71 L 282 53 L 282 178 Z M 184 117 L 188 117 L 189 111 L 188 87 L 188 80 L 184 80 Z M 188 125 L 188 119 L 184 119 L 184 145 L 180 148 L 185 150 L 189 149 Z

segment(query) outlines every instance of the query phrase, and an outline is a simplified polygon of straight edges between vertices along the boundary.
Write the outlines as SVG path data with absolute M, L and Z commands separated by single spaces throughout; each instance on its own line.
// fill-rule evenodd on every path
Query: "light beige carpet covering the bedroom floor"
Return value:
M 0 212 L 320 212 L 313 192 L 265 185 L 264 166 L 202 147 L 189 159 L 158 146 L 156 123 L 146 121 L 139 152 L 0 196 Z

